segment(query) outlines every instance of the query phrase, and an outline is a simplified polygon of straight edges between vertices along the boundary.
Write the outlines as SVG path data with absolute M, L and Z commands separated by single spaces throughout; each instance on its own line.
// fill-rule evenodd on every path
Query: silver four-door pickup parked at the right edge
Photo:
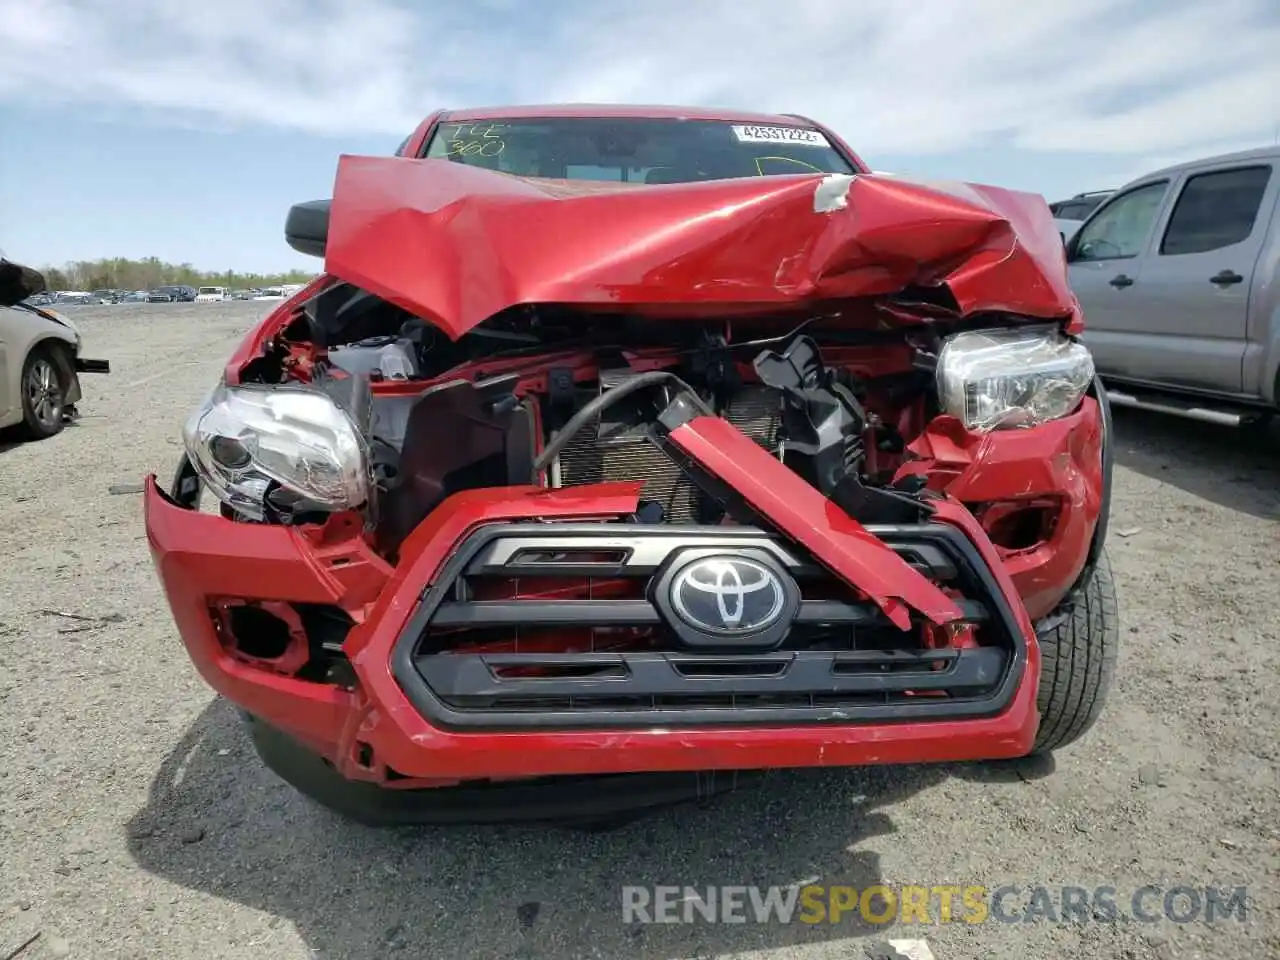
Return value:
M 1068 243 L 1111 402 L 1240 425 L 1280 408 L 1280 146 L 1121 187 Z

